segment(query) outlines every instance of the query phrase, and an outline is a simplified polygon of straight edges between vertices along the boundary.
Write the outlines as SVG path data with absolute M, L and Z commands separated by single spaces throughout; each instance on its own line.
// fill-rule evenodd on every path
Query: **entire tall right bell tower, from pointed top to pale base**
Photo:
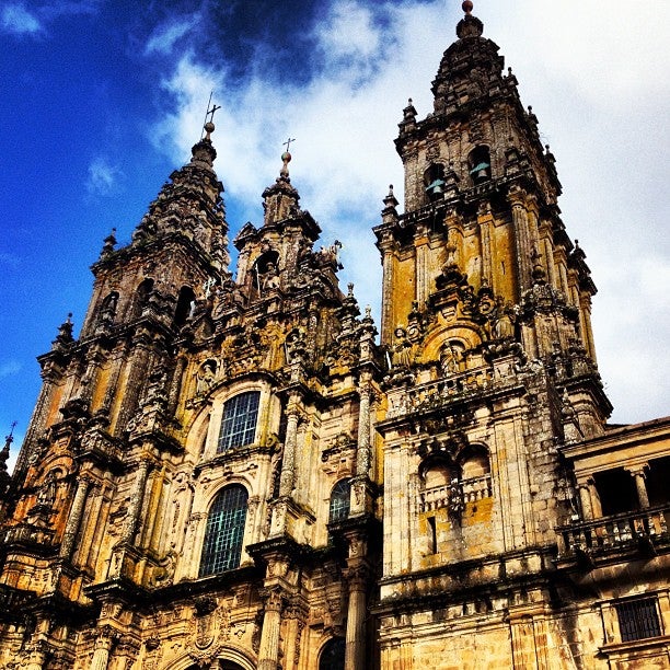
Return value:
M 374 229 L 390 362 L 382 667 L 409 646 L 416 667 L 438 648 L 457 657 L 475 621 L 498 667 L 546 652 L 534 603 L 551 599 L 553 529 L 575 507 L 556 446 L 601 435 L 611 411 L 596 287 L 561 220 L 554 157 L 472 2 L 463 10 L 431 113 L 403 112 L 405 211 L 391 188 Z

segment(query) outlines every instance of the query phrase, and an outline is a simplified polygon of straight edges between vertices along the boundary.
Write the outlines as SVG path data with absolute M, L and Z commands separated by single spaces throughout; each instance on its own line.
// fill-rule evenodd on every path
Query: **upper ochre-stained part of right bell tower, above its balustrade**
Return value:
M 432 112 L 419 120 L 409 100 L 395 140 L 405 212 L 391 188 L 374 229 L 382 344 L 426 379 L 440 366 L 480 365 L 493 339 L 515 342 L 559 374 L 577 366 L 590 381 L 568 392 L 598 432 L 610 405 L 596 371 L 596 286 L 561 220 L 561 183 L 538 119 L 521 105 L 498 46 L 464 9 L 432 82 Z

